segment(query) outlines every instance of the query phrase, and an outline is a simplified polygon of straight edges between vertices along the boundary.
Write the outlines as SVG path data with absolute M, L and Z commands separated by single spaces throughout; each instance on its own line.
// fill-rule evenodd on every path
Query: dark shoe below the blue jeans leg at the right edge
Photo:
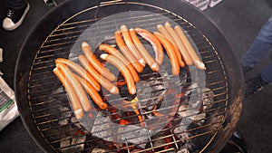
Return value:
M 248 97 L 251 94 L 262 91 L 267 84 L 268 82 L 264 81 L 260 74 L 258 74 L 257 77 L 249 81 L 246 81 L 245 82 L 245 87 L 246 87 L 245 97 Z

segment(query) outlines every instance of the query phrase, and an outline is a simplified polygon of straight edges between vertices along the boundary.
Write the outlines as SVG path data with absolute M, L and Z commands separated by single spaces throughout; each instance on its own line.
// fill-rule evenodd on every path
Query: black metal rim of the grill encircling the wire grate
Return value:
M 204 16 L 200 20 L 189 21 L 189 22 L 192 23 L 193 25 L 197 26 L 201 33 L 206 32 L 204 34 L 209 38 L 209 41 L 215 42 L 215 43 L 212 43 L 215 46 L 215 48 L 224 48 L 225 51 L 230 51 L 230 53 L 227 53 L 227 55 L 228 55 L 227 57 L 226 57 L 226 53 L 225 54 L 219 53 L 219 57 L 224 56 L 221 59 L 221 61 L 224 63 L 224 65 L 228 65 L 228 67 L 226 67 L 226 70 L 225 70 L 227 72 L 228 80 L 238 79 L 238 82 L 243 82 L 242 77 L 240 77 L 240 76 L 242 76 L 240 68 L 238 67 L 239 70 L 234 71 L 229 66 L 229 65 L 238 65 L 238 64 L 231 63 L 231 62 L 229 62 L 230 60 L 228 60 L 228 59 L 234 59 L 234 56 L 231 52 L 232 50 L 228 44 L 226 37 L 219 30 L 217 25 L 214 24 L 205 14 L 203 14 L 199 10 L 191 7 L 189 4 L 186 4 L 185 2 L 183 4 L 180 3 L 180 1 L 178 1 L 178 0 L 173 1 L 173 3 L 171 3 L 171 4 L 168 4 L 167 2 L 163 2 L 163 1 L 161 1 L 162 2 L 161 4 L 157 4 L 156 1 L 154 1 L 154 0 L 151 0 L 148 2 L 145 2 L 143 0 L 126 0 L 126 1 L 127 2 L 143 3 L 143 4 L 148 4 L 148 5 L 157 5 L 157 6 L 163 7 L 166 10 L 170 10 L 172 13 L 175 13 L 175 14 L 180 14 L 180 10 L 185 9 L 186 14 L 182 13 L 182 16 L 184 16 L 184 18 L 188 18 L 188 19 L 192 19 L 192 17 L 188 17 L 188 16 Z M 81 5 L 79 6 L 79 4 L 81 4 Z M 38 51 L 39 47 L 42 46 L 42 44 L 44 43 L 44 40 L 47 37 L 47 35 L 49 35 L 50 33 L 53 33 L 53 30 L 58 26 L 58 23 L 63 23 L 63 21 L 67 20 L 67 18 L 72 16 L 72 15 L 68 15 L 68 14 L 66 14 L 67 16 L 65 16 L 65 15 L 59 16 L 59 14 L 62 12 L 62 10 L 65 9 L 65 7 L 68 7 L 68 8 L 73 7 L 72 11 L 69 14 L 77 14 L 81 10 L 84 10 L 86 8 L 92 7 L 93 5 L 99 5 L 99 4 L 100 4 L 99 0 L 93 0 L 92 2 L 89 2 L 89 3 L 86 3 L 86 2 L 84 3 L 84 1 L 75 2 L 75 1 L 70 0 L 70 1 L 66 1 L 62 5 L 59 5 L 58 7 L 54 8 L 53 10 L 51 10 L 50 12 L 45 14 L 44 17 L 41 18 L 37 24 L 34 25 L 34 29 L 31 31 L 31 33 L 29 33 L 27 35 L 27 37 L 24 41 L 23 47 L 21 48 L 20 53 L 18 55 L 18 59 L 17 59 L 16 66 L 15 66 L 16 103 L 18 106 L 18 110 L 20 112 L 21 119 L 23 120 L 24 127 L 27 129 L 27 131 L 30 133 L 30 135 L 32 136 L 34 141 L 39 145 L 39 147 L 44 150 L 44 152 L 51 152 L 51 151 L 53 151 L 53 148 L 51 148 L 49 145 L 47 145 L 47 142 L 45 142 L 45 139 L 41 137 L 40 132 L 38 131 L 36 125 L 34 124 L 34 120 L 29 117 L 29 115 L 31 114 L 30 113 L 31 108 L 29 107 L 29 105 L 26 105 L 26 104 L 28 104 L 28 100 L 27 100 L 28 93 L 27 93 L 27 90 L 25 90 L 25 89 L 27 89 L 28 75 L 29 75 L 29 71 L 31 70 L 31 66 L 34 62 L 33 59 L 35 56 L 34 52 L 31 52 L 31 53 L 28 53 L 28 52 L 33 51 L 33 50 Z M 179 9 L 172 8 L 173 4 L 180 5 L 180 8 Z M 83 8 L 83 6 L 86 8 Z M 191 14 L 191 13 L 193 13 L 193 14 Z M 52 21 L 58 21 L 58 23 L 49 24 L 49 26 L 44 27 L 43 23 L 46 21 L 50 22 L 50 23 L 52 23 Z M 203 24 L 203 23 L 209 24 L 209 26 L 211 26 L 212 28 L 209 28 L 208 32 L 207 32 L 207 29 L 205 29 L 205 28 L 203 30 L 201 30 L 202 29 L 201 24 Z M 45 30 L 45 29 L 47 29 L 47 30 Z M 214 34 L 212 34 L 212 33 L 217 33 L 218 35 L 214 36 Z M 33 40 L 35 40 L 35 42 L 33 42 Z M 40 40 L 42 40 L 42 41 L 40 41 Z M 219 40 L 221 40 L 221 41 L 219 41 Z M 225 42 L 225 43 L 218 44 L 216 42 Z M 219 51 L 222 51 L 222 50 L 219 50 Z M 27 63 L 25 61 L 30 61 L 30 62 L 28 62 L 28 64 L 25 64 L 25 63 Z M 22 64 L 22 63 L 24 63 L 24 64 Z M 231 74 L 231 72 L 233 72 L 233 73 Z M 235 103 L 238 103 L 239 101 L 241 101 L 242 98 L 240 98 L 240 97 L 241 97 L 241 95 L 243 95 L 243 87 L 238 87 L 238 84 L 233 84 L 233 83 L 229 83 L 228 86 L 229 86 L 228 92 L 230 95 L 229 100 L 228 100 L 229 101 L 228 105 L 231 105 L 233 103 L 235 104 Z M 231 93 L 230 93 L 230 91 L 231 91 Z M 24 104 L 22 104 L 21 102 L 23 102 Z M 240 105 L 232 105 L 231 112 L 233 112 L 233 111 L 236 111 L 237 114 L 240 114 L 241 106 Z M 230 112 L 228 113 L 228 115 L 226 114 L 226 116 L 227 117 L 230 116 Z M 232 120 L 234 120 L 234 122 L 232 122 L 232 124 L 233 124 L 232 127 L 236 127 L 238 120 L 237 119 L 236 120 L 232 119 Z M 232 120 L 230 120 L 230 121 L 232 121 Z M 229 129 L 227 127 L 228 126 L 226 126 L 225 128 Z M 224 130 L 226 130 L 226 129 L 224 129 Z M 234 130 L 234 128 L 232 128 L 231 130 Z M 222 132 L 220 132 L 218 135 L 222 135 Z M 228 138 L 230 138 L 230 135 L 228 136 Z M 224 144 L 227 143 L 227 139 L 225 140 L 226 142 Z M 209 147 L 210 146 L 211 145 L 209 145 Z M 221 148 L 223 148 L 223 146 Z M 212 148 L 212 149 L 214 149 L 214 152 L 218 152 L 217 150 L 220 150 L 219 147 Z M 209 148 L 207 148 L 206 150 L 209 150 Z

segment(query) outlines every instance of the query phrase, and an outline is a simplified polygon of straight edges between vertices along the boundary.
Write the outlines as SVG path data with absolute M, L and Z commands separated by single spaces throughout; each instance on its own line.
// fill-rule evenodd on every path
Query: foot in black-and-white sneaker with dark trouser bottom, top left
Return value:
M 12 31 L 23 23 L 30 6 L 24 0 L 5 0 L 5 4 L 7 13 L 2 26 L 6 31 Z

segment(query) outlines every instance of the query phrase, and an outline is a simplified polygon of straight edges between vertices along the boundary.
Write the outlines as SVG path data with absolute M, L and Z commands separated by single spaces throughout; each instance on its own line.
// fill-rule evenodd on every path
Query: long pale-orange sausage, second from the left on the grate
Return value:
M 63 63 L 56 63 L 57 68 L 59 68 L 66 77 L 66 81 L 69 81 L 75 91 L 78 99 L 81 101 L 83 110 L 89 111 L 91 110 L 90 101 L 86 95 L 86 92 L 83 90 L 82 84 L 77 80 L 74 76 L 74 73 L 70 71 L 70 69 Z

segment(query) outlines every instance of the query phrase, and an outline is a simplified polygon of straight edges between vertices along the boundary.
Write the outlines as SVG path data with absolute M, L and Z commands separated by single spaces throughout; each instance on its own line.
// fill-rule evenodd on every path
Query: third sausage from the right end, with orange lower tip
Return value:
M 177 54 L 178 60 L 180 62 L 180 66 L 184 67 L 185 63 L 182 60 L 179 47 L 177 43 L 174 41 L 173 37 L 170 35 L 170 33 L 168 33 L 168 31 L 165 29 L 163 25 L 161 24 L 157 25 L 157 29 L 163 36 L 165 36 L 170 41 L 170 43 L 174 45 L 175 53 Z

